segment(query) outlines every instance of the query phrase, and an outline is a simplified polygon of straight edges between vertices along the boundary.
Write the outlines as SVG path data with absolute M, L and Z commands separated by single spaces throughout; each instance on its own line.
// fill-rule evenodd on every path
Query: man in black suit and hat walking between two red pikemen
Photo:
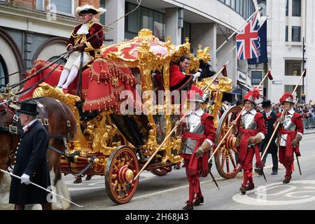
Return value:
M 272 134 L 274 132 L 274 123 L 276 122 L 276 113 L 272 111 L 272 104 L 269 99 L 264 99 L 262 102 L 262 109 L 264 110 L 262 112 L 262 115 L 265 119 L 265 125 L 267 134 L 265 136 L 265 139 L 262 141 L 261 144 L 261 152 L 263 153 L 265 151 L 265 148 L 267 147 L 267 144 L 269 143 L 270 138 L 272 137 Z M 267 153 L 272 155 L 272 174 L 276 175 L 278 174 L 278 146 L 276 146 L 276 135 L 274 135 L 274 138 L 271 141 L 271 144 L 268 148 Z M 267 159 L 267 154 L 265 154 L 264 158 L 262 158 L 262 163 L 265 165 Z M 262 175 L 262 170 L 259 168 L 255 169 L 255 172 L 259 175 Z

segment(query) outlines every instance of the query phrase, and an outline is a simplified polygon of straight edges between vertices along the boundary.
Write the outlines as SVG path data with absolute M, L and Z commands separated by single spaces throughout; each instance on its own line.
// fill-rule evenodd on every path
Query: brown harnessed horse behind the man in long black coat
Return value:
M 34 99 L 31 99 L 34 101 Z M 37 111 L 39 112 L 38 118 L 44 123 L 46 120 L 46 129 L 48 134 L 58 134 L 70 137 L 76 133 L 76 118 L 73 115 L 71 109 L 66 104 L 59 102 L 57 99 L 44 97 L 35 99 L 38 104 Z M 1 101 L 0 101 L 1 103 Z M 15 115 L 14 109 L 2 104 L 0 106 L 0 126 L 8 127 L 13 123 L 13 116 Z M 69 121 L 69 122 L 67 122 Z M 48 125 L 47 125 L 48 123 Z M 70 125 L 68 125 L 70 123 Z M 12 134 L 6 131 L 0 131 L 0 168 L 6 169 L 12 161 L 9 158 L 13 158 L 16 148 L 18 146 L 18 135 Z M 64 151 L 64 140 L 58 137 L 50 137 L 49 145 L 57 148 L 59 151 Z M 55 192 L 70 200 L 69 190 L 66 188 L 64 181 L 62 181 L 62 173 L 60 169 L 61 155 L 55 153 L 55 151 L 47 151 L 48 167 L 50 169 L 50 181 L 51 185 L 55 186 Z M 10 176 L 4 175 L 0 172 L 0 197 L 6 200 L 8 203 L 8 190 L 10 190 Z M 1 202 L 0 200 L 0 205 Z M 56 197 L 56 201 L 52 202 L 53 209 L 67 209 L 69 202 Z

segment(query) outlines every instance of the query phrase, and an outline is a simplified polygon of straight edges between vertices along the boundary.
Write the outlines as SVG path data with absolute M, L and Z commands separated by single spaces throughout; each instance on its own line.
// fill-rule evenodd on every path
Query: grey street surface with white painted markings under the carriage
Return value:
M 313 131 L 308 131 L 312 133 Z M 314 132 L 313 132 L 314 133 Z M 277 175 L 271 176 L 272 160 L 268 155 L 265 175 L 267 183 L 258 174 L 253 175 L 255 189 L 241 195 L 242 174 L 235 179 L 225 180 L 212 167 L 220 190 L 216 188 L 211 177 L 201 179 L 201 188 L 204 195 L 204 204 L 195 207 L 195 210 L 290 210 L 315 209 L 315 134 L 305 134 L 301 143 L 299 158 L 302 168 L 302 177 L 299 174 L 295 160 L 295 172 L 289 184 L 282 183 L 285 169 L 279 164 Z M 90 181 L 73 184 L 73 176 L 63 177 L 66 180 L 71 199 L 83 205 L 83 209 L 108 210 L 181 210 L 188 200 L 188 181 L 185 168 L 173 169 L 165 176 L 154 176 L 144 172 L 140 176 L 139 186 L 132 200 L 127 204 L 114 204 L 106 195 L 104 176 L 93 176 Z M 70 209 L 82 209 L 75 206 Z

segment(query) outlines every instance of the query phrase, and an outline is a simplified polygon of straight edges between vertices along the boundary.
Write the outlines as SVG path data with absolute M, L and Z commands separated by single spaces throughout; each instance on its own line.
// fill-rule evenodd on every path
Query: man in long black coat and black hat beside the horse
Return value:
M 25 204 L 41 204 L 43 209 L 51 210 L 50 197 L 29 183 L 33 182 L 48 188 L 50 175 L 46 152 L 48 148 L 48 132 L 37 120 L 36 104 L 22 102 L 18 110 L 23 133 L 17 148 L 16 162 L 13 174 L 21 176 L 21 180 L 13 178 L 10 186 L 10 204 L 15 204 L 15 210 L 24 210 Z

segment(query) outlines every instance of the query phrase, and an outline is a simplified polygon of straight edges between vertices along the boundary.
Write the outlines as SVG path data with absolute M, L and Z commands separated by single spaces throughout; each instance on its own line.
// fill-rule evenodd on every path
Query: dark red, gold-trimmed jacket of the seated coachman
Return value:
M 68 39 L 68 43 L 66 44 L 66 49 L 68 49 L 70 45 L 76 46 L 80 43 L 84 43 L 84 51 L 89 52 L 90 56 L 102 57 L 101 46 L 104 43 L 104 31 L 102 25 L 90 21 L 87 25 L 87 30 L 89 31 L 88 34 L 76 34 L 81 26 L 82 24 L 73 29 L 71 36 Z

